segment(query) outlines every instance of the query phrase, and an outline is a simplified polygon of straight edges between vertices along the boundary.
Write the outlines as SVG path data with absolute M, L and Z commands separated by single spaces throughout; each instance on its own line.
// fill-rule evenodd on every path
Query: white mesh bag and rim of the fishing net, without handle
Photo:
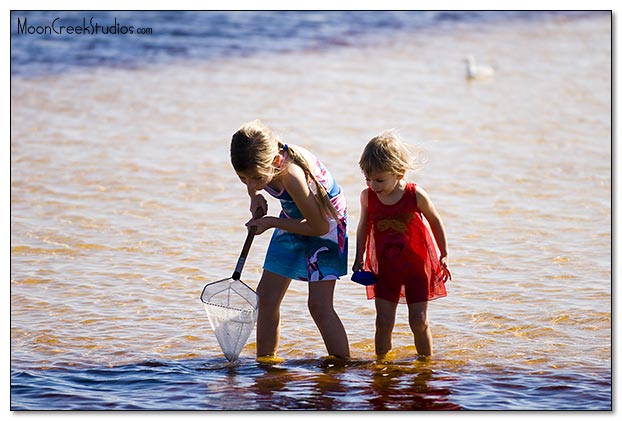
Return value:
M 223 279 L 205 285 L 201 301 L 223 354 L 237 360 L 257 321 L 257 294 L 240 280 Z

